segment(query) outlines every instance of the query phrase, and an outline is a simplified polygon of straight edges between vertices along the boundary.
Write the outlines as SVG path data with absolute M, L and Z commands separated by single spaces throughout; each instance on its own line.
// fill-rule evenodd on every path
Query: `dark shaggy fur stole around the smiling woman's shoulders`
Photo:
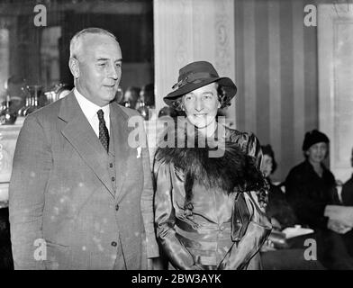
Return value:
M 236 143 L 227 140 L 217 141 L 217 139 L 200 141 L 197 130 L 195 136 L 184 131 L 183 133 L 184 146 L 179 145 L 180 133 L 166 134 L 164 140 L 173 136 L 174 144 L 179 143 L 177 145 L 179 148 L 176 145 L 159 147 L 156 151 L 156 159 L 167 164 L 173 163 L 184 172 L 186 209 L 192 210 L 190 205 L 196 183 L 206 189 L 222 190 L 223 193 L 260 191 L 267 188 L 266 180 L 256 165 L 255 157 L 244 153 Z M 210 152 L 215 152 L 217 149 L 217 154 L 221 156 L 210 157 Z

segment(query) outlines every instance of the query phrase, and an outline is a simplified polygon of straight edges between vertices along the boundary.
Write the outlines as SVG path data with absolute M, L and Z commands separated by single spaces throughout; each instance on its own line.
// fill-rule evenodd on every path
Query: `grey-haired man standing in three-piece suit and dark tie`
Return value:
M 70 42 L 75 88 L 29 115 L 17 140 L 10 225 L 17 269 L 146 269 L 158 257 L 147 148 L 137 112 L 113 102 L 122 51 L 108 31 Z

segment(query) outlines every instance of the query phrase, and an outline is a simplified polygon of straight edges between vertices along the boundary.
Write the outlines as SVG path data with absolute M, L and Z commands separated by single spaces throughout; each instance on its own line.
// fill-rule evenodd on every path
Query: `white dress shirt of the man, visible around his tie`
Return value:
M 100 107 L 95 103 L 89 101 L 85 96 L 80 94 L 77 91 L 77 88 L 74 88 L 74 94 L 77 99 L 79 106 L 81 107 L 82 112 L 84 112 L 89 124 L 92 126 L 93 130 L 95 131 L 95 135 L 99 138 L 99 119 L 97 112 L 98 110 L 102 109 L 104 112 L 104 121 L 105 126 L 109 131 L 110 135 L 110 109 L 109 104 L 105 105 L 104 107 Z

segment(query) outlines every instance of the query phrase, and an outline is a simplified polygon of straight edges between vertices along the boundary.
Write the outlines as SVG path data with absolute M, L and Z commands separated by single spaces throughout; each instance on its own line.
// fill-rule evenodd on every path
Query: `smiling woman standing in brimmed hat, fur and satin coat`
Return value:
M 258 139 L 216 119 L 237 88 L 205 61 L 182 67 L 174 88 L 164 101 L 186 120 L 164 136 L 177 145 L 160 146 L 154 159 L 159 244 L 176 269 L 258 268 L 271 230 L 260 207 L 267 185 Z M 223 153 L 211 157 L 217 148 Z

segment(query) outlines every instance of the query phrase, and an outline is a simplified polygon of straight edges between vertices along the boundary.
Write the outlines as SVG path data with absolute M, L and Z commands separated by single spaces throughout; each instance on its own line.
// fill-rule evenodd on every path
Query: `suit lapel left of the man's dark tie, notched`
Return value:
M 61 133 L 76 148 L 77 153 L 84 159 L 87 166 L 91 167 L 95 175 L 114 197 L 113 184 L 106 165 L 107 154 L 77 103 L 73 92 L 63 99 L 59 118 L 67 122 Z

